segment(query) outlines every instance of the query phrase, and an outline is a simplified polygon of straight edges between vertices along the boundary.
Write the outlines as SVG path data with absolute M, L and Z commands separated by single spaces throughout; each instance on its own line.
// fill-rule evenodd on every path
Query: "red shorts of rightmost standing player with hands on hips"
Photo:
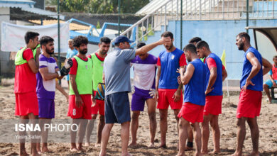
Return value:
M 260 115 L 261 111 L 261 91 L 246 89 L 239 94 L 239 104 L 237 106 L 237 118 L 254 118 Z

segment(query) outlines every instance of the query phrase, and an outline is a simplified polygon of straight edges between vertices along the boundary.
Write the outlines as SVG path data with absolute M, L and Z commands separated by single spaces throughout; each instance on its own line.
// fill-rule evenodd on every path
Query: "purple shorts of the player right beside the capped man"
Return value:
M 153 99 L 152 96 L 149 95 L 150 91 L 146 91 L 143 89 L 137 89 L 135 87 L 135 92 L 132 95 L 131 101 L 131 111 L 143 111 L 144 104 L 147 99 Z

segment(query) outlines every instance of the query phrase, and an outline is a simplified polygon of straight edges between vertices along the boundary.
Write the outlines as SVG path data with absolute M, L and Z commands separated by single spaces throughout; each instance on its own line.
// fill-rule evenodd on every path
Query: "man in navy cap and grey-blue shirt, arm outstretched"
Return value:
M 130 106 L 128 92 L 130 85 L 130 62 L 136 55 L 145 54 L 158 45 L 169 42 L 168 38 L 161 38 L 137 50 L 130 49 L 133 41 L 123 35 L 119 35 L 114 41 L 116 48 L 110 52 L 104 60 L 103 77 L 106 84 L 105 91 L 105 126 L 102 131 L 101 151 L 99 155 L 106 155 L 109 133 L 114 123 L 121 124 L 121 155 L 129 155 L 127 147 L 129 143 Z

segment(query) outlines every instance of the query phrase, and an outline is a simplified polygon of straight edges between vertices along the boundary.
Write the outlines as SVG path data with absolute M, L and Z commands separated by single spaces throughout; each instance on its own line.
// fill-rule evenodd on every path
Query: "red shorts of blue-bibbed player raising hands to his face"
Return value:
M 178 118 L 185 118 L 190 123 L 202 123 L 203 122 L 203 110 L 204 106 L 185 102 L 178 114 Z

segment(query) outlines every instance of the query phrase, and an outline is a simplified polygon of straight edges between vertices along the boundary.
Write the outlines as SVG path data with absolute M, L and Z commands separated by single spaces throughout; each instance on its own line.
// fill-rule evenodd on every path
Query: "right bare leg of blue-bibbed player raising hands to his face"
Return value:
M 192 130 L 195 138 L 195 156 L 202 155 L 201 153 L 201 129 L 199 123 L 192 123 Z

